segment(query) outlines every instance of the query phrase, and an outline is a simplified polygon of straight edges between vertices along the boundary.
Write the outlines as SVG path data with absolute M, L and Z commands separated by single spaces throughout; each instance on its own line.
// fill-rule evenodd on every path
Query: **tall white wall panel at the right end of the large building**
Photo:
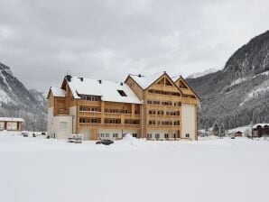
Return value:
M 181 138 L 185 138 L 186 134 L 190 134 L 190 139 L 195 140 L 195 121 L 196 106 L 182 104 L 181 105 Z

